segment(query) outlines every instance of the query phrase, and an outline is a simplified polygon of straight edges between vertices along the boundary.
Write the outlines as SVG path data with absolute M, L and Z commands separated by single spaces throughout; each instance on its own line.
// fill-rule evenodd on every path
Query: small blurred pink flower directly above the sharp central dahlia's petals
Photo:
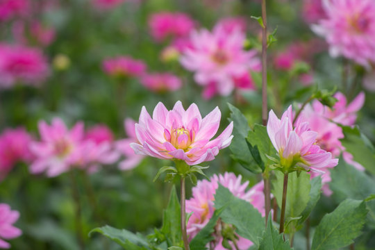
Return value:
M 181 88 L 181 79 L 169 73 L 145 74 L 140 79 L 142 85 L 152 92 L 172 92 Z

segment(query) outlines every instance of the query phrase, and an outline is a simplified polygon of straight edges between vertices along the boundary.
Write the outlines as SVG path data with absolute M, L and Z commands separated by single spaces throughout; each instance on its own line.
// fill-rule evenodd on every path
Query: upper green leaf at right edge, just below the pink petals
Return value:
M 341 126 L 344 138 L 341 141 L 345 150 L 353 155 L 353 160 L 360 163 L 369 172 L 375 175 L 374 145 L 360 132 L 358 126 Z

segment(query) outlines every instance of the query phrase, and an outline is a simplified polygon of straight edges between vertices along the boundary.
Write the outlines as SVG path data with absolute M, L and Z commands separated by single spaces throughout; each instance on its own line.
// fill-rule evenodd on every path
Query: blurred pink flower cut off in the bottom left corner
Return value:
M 13 224 L 19 218 L 19 212 L 11 210 L 10 206 L 6 203 L 0 203 L 0 248 L 10 249 L 10 244 L 5 240 L 10 240 L 22 235 L 19 228 Z

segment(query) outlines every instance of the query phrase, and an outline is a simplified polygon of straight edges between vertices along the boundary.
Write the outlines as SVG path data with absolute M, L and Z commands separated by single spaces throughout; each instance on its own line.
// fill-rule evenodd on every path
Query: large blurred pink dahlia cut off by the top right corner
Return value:
M 344 56 L 365 67 L 375 62 L 375 2 L 373 0 L 324 1 L 326 19 L 313 31 L 328 42 L 331 56 Z

